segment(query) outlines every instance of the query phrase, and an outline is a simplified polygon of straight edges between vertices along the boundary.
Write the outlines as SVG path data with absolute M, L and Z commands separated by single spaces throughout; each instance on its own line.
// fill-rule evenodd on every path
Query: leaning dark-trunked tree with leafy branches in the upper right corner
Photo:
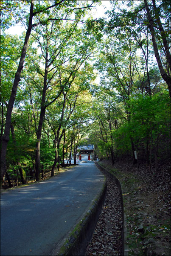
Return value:
M 123 1 L 124 4 L 126 1 Z M 125 6 L 115 12 L 118 3 L 113 3 L 113 10 L 109 11 L 110 20 L 107 23 L 107 31 L 124 31 L 132 28 L 144 30 L 146 26 L 151 33 L 154 55 L 163 80 L 168 85 L 169 94 L 171 93 L 171 57 L 170 57 L 170 2 L 169 1 L 140 1 L 137 5 L 135 2 L 127 1 Z M 145 12 L 146 10 L 146 12 Z M 163 22 L 161 22 L 161 19 Z

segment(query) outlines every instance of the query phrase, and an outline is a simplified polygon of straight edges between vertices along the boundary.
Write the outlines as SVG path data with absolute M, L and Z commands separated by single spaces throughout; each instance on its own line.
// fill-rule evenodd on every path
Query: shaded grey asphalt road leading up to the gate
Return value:
M 104 175 L 92 161 L 1 194 L 0 255 L 49 255 L 84 217 Z

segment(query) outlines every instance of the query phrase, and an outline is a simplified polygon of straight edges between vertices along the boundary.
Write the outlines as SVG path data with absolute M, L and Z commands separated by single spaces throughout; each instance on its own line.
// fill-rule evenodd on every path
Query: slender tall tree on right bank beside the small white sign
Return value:
M 109 85 L 111 85 L 111 87 L 115 87 L 118 91 L 118 96 L 121 97 L 121 101 L 125 106 L 125 118 L 127 119 L 127 122 L 131 122 L 131 109 L 129 101 L 135 94 L 136 89 L 135 66 L 137 65 L 137 44 L 132 42 L 131 36 L 129 39 L 127 39 L 123 37 L 123 34 L 121 34 L 119 39 L 120 41 L 117 41 L 118 39 L 114 39 L 114 41 L 110 40 L 110 43 L 107 40 L 104 58 L 101 58 L 102 64 L 99 63 L 97 67 L 99 70 L 103 70 L 105 76 L 106 73 L 108 74 Z M 132 137 L 130 137 L 130 141 L 132 145 L 133 161 L 136 163 L 135 145 Z

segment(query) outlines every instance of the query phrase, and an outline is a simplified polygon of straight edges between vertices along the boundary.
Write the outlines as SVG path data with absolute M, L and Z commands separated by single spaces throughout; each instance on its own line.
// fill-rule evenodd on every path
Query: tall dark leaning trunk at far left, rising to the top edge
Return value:
M 25 34 L 25 41 L 24 41 L 24 46 L 22 48 L 22 53 L 20 57 L 20 62 L 18 65 L 17 72 L 15 74 L 15 79 L 11 91 L 11 96 L 8 102 L 8 109 L 6 113 L 6 125 L 5 125 L 5 130 L 3 134 L 3 139 L 2 139 L 2 145 L 1 145 L 1 154 L 0 154 L 0 178 L 1 178 L 1 187 L 2 187 L 2 182 L 3 182 L 3 177 L 6 173 L 6 149 L 9 141 L 9 133 L 10 133 L 10 125 L 11 125 L 11 113 L 13 110 L 13 105 L 17 93 L 17 87 L 20 82 L 20 76 L 21 76 L 21 71 L 23 68 L 24 64 L 24 59 L 25 59 L 25 54 L 28 48 L 28 41 L 29 37 L 31 34 L 31 29 L 32 29 L 32 20 L 33 20 L 33 9 L 34 9 L 34 1 L 31 1 L 31 6 L 30 6 L 30 16 L 29 16 L 29 21 L 28 21 L 28 29 Z

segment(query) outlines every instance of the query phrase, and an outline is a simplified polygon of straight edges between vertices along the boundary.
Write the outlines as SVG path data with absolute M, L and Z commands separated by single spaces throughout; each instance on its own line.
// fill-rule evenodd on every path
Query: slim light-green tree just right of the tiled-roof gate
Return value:
M 101 156 L 111 158 L 112 165 L 115 163 L 113 131 L 118 128 L 118 114 L 115 110 L 117 103 L 115 100 L 114 91 L 107 89 L 103 84 L 96 92 L 96 99 L 93 102 L 92 109 L 94 117 L 92 127 L 95 129 L 95 134 L 97 134 L 93 138 L 93 144 L 101 148 Z M 97 126 L 99 127 L 97 128 Z

